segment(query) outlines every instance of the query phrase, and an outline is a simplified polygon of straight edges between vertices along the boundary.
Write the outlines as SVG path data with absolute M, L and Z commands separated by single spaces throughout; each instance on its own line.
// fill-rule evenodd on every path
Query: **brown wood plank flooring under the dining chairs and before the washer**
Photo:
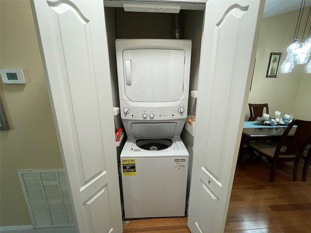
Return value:
M 311 171 L 307 182 L 292 181 L 292 163 L 280 163 L 274 183 L 269 165 L 254 161 L 237 166 L 225 233 L 311 233 Z M 187 217 L 130 220 L 123 233 L 190 233 Z

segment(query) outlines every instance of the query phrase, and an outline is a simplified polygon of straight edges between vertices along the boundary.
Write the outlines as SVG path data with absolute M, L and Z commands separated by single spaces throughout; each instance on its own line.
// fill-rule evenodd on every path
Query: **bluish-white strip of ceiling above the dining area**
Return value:
M 303 5 L 304 3 L 302 3 Z M 263 17 L 271 17 L 300 9 L 301 0 L 266 0 Z M 311 6 L 311 0 L 306 0 L 305 7 Z

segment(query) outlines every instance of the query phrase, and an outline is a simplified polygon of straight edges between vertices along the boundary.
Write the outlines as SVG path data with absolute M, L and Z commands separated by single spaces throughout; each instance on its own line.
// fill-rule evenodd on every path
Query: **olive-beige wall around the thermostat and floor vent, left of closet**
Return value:
M 62 168 L 30 1 L 0 0 L 0 68 L 26 84 L 0 82 L 10 129 L 0 132 L 0 227 L 31 225 L 17 169 Z M 0 230 L 1 231 L 1 230 Z

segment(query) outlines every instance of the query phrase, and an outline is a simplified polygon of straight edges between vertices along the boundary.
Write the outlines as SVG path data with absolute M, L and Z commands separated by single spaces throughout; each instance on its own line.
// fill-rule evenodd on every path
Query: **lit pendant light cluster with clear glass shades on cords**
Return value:
M 302 0 L 294 33 L 293 43 L 287 48 L 287 57 L 281 66 L 282 73 L 290 73 L 294 67 L 294 62 L 296 64 L 306 64 L 309 61 L 311 52 L 311 29 L 309 31 L 308 39 L 305 41 L 305 43 L 299 43 L 297 39 L 305 4 L 306 0 Z M 302 34 L 301 41 L 303 41 L 306 32 L 308 20 L 310 17 L 310 11 L 311 7 L 309 9 L 308 18 Z M 311 73 L 311 62 L 307 65 L 307 73 Z

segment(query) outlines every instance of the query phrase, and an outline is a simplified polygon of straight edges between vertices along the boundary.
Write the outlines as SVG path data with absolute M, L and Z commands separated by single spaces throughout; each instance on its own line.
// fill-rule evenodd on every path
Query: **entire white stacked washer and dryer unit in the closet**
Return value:
M 184 216 L 191 41 L 117 39 L 125 218 Z

